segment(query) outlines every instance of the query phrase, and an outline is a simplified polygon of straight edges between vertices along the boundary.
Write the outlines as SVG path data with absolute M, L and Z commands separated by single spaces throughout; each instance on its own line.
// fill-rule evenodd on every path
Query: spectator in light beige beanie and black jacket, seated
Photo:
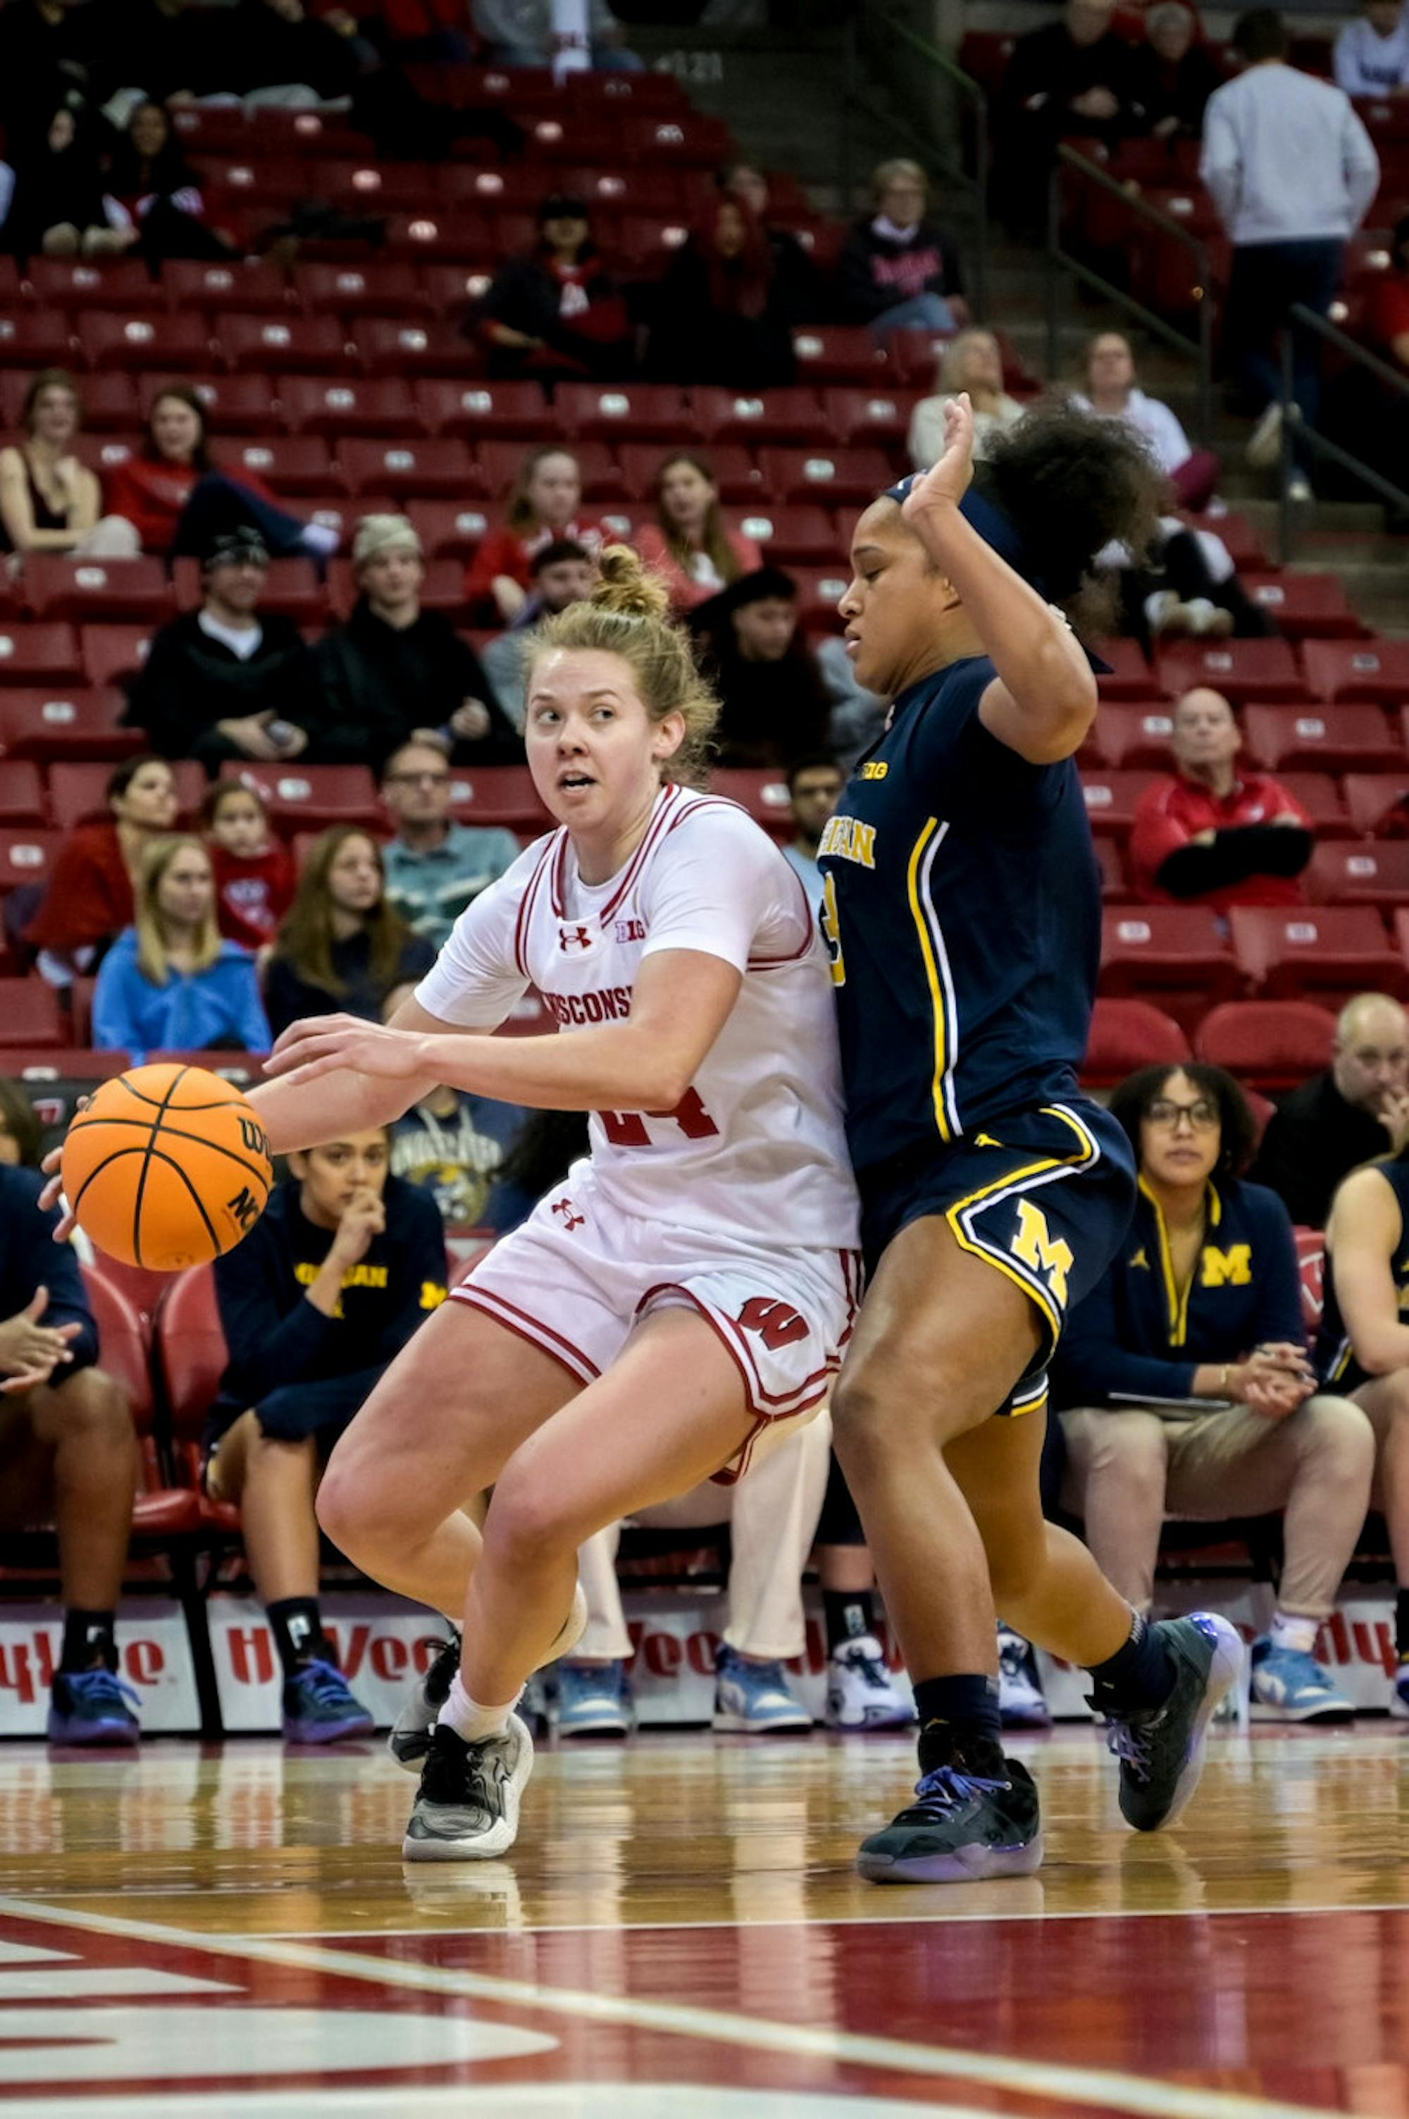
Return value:
M 356 608 L 314 648 L 299 714 L 309 761 L 381 771 L 417 729 L 439 729 L 458 765 L 523 759 L 479 655 L 439 610 L 422 610 L 426 562 L 405 515 L 364 515 L 352 545 Z

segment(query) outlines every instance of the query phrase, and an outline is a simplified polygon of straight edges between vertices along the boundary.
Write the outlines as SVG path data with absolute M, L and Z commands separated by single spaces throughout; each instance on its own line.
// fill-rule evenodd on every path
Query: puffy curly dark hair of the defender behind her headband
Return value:
M 1053 604 L 1078 631 L 1106 629 L 1119 583 L 1098 578 L 1095 555 L 1112 538 L 1142 553 L 1165 496 L 1142 437 L 1123 420 L 1038 407 L 994 437 L 975 485 L 1021 532 Z

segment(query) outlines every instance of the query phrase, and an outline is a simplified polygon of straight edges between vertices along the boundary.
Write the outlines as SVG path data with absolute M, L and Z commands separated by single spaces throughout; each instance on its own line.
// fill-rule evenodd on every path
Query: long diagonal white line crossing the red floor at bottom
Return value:
M 1331 2119 L 1324 2106 L 1284 2104 L 1229 2089 L 1191 2089 L 1182 2083 L 1119 2075 L 1110 2068 L 1074 2068 L 1064 2062 L 964 2053 L 943 2045 L 913 2045 L 905 2038 L 879 2038 L 805 2024 L 778 2024 L 769 2017 L 733 2015 L 725 2009 L 699 2009 L 684 2002 L 655 2002 L 625 1994 L 589 1994 L 576 1988 L 545 1988 L 532 1979 L 500 1979 L 489 1973 L 449 1971 L 439 1964 L 384 1962 L 358 1956 L 352 1949 L 318 1949 L 309 1943 L 267 1941 L 244 1935 L 189 1935 L 182 1928 L 150 1920 L 125 1920 L 119 1913 L 61 1911 L 51 1905 L 32 1905 L 25 1899 L 0 1899 L 0 1916 L 34 1920 L 55 1928 L 81 1928 L 91 1935 L 150 1943 L 163 1949 L 195 1949 L 206 1956 L 282 1964 L 286 1971 L 324 1973 L 333 1979 L 360 1979 L 381 1988 L 394 1986 L 413 1994 L 485 2000 L 509 2009 L 557 2011 L 559 2015 L 578 2015 L 598 2024 L 627 2024 L 636 2030 L 659 2030 L 716 2045 L 754 2047 L 805 2060 L 839 2060 L 854 2066 L 890 2068 L 903 2075 L 926 2075 L 953 2083 L 981 2083 L 989 2089 L 1006 2089 L 1023 2098 L 1049 2098 L 1087 2111 L 1095 2106 L 1110 2113 L 1136 2113 L 1140 2119 Z

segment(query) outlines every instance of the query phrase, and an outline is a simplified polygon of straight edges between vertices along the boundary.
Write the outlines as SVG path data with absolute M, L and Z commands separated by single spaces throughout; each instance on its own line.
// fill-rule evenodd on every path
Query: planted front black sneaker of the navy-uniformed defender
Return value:
M 856 1867 L 873 1884 L 979 1884 L 1032 1875 L 1042 1865 L 1042 1820 L 1032 1774 L 1004 1759 L 1006 1780 L 975 1780 L 937 1765 L 917 1803 L 862 1839 Z

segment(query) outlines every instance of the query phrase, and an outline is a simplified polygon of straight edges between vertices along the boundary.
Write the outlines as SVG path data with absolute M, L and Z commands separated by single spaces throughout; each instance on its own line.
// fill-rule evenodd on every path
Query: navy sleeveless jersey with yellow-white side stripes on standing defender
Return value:
M 911 684 L 818 850 L 858 1172 L 1076 1093 L 1100 871 L 1076 765 L 983 727 L 987 657 Z

